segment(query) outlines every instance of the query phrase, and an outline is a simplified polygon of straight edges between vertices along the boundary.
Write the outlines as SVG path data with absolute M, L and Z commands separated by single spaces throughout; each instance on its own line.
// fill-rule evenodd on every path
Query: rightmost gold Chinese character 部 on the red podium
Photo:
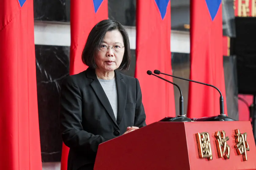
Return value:
M 236 129 L 236 145 L 235 148 L 239 155 L 243 154 L 243 160 L 247 161 L 247 151 L 250 151 L 249 145 L 247 143 L 247 133 L 240 133 L 239 129 Z

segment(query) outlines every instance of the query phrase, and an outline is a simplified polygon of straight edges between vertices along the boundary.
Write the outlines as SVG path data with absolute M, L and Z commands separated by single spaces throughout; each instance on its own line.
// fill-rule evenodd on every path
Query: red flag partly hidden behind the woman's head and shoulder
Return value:
M 87 69 L 81 55 L 91 29 L 101 20 L 108 19 L 107 0 L 72 0 L 70 2 L 70 75 Z M 62 143 L 61 170 L 67 170 L 69 147 Z

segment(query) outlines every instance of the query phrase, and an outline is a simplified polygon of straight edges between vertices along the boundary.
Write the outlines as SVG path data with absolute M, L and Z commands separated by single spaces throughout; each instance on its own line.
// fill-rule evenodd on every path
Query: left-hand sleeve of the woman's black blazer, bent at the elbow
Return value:
M 62 140 L 69 148 L 84 149 L 96 155 L 98 145 L 110 140 L 83 130 L 82 97 L 71 76 L 62 83 L 59 109 Z

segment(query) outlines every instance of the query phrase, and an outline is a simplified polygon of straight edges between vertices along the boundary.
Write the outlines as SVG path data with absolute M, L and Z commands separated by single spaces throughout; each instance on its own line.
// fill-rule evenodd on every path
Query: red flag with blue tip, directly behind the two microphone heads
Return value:
M 173 85 L 147 75 L 147 70 L 155 69 L 172 74 L 170 3 L 170 0 L 137 1 L 135 77 L 140 82 L 147 124 L 165 116 L 175 117 Z M 172 81 L 171 77 L 162 77 Z

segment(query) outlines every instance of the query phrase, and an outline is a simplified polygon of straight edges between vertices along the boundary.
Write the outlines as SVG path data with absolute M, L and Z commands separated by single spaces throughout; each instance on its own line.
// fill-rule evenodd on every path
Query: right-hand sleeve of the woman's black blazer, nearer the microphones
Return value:
M 139 85 L 139 80 L 136 78 L 136 107 L 134 126 L 139 128 L 146 126 L 146 114 L 142 104 L 142 93 Z

